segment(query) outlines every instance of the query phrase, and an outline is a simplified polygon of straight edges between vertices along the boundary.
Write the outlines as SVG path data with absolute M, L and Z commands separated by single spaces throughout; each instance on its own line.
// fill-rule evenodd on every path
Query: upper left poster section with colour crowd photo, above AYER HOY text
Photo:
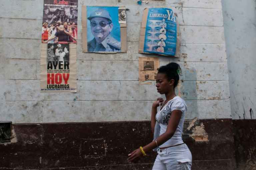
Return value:
M 42 42 L 77 42 L 77 0 L 44 0 Z

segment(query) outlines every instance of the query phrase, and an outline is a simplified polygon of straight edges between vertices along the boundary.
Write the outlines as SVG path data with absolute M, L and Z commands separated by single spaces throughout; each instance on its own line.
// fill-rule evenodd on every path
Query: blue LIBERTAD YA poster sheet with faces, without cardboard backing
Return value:
M 144 52 L 175 55 L 177 25 L 169 8 L 149 8 L 145 32 Z

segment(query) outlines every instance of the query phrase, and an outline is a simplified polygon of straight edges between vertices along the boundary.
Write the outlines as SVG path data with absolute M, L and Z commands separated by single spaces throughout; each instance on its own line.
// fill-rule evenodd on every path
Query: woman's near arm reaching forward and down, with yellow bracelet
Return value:
M 172 111 L 172 114 L 171 114 L 170 120 L 168 122 L 166 132 L 161 134 L 156 139 L 158 146 L 160 146 L 161 144 L 163 144 L 164 142 L 166 142 L 168 139 L 170 139 L 173 136 L 173 134 L 175 133 L 175 131 L 176 131 L 178 125 L 179 125 L 181 115 L 182 115 L 182 112 L 179 111 L 179 110 Z M 143 150 L 147 153 L 147 152 L 149 152 L 150 150 L 152 150 L 156 147 L 157 147 L 157 145 L 156 145 L 156 142 L 154 140 L 151 143 L 144 146 Z M 140 156 L 142 156 L 142 153 L 141 153 L 140 149 L 136 149 L 132 153 L 129 154 L 128 161 L 131 161 L 131 162 L 136 161 Z

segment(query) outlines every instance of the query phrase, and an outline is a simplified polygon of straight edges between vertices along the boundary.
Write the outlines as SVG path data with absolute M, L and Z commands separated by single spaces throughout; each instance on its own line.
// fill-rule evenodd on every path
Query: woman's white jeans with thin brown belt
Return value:
M 157 149 L 152 170 L 191 170 L 192 155 L 186 144 Z

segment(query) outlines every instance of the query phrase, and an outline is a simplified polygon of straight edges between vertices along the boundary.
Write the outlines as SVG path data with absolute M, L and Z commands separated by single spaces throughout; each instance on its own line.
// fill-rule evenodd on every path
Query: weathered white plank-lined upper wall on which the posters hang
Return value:
M 128 52 L 82 53 L 81 6 L 126 6 Z M 13 123 L 150 120 L 159 97 L 155 83 L 138 82 L 139 31 L 144 8 L 170 7 L 181 29 L 180 58 L 159 56 L 160 65 L 178 62 L 186 119 L 231 118 L 221 0 L 79 0 L 77 93 L 40 93 L 42 0 L 0 0 L 0 120 Z M 177 89 L 177 90 L 178 90 Z

